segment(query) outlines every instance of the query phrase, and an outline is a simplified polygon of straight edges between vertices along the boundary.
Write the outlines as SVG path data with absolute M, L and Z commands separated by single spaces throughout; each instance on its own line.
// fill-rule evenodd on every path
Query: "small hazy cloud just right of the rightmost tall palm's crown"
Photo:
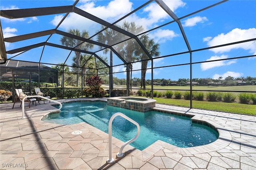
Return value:
M 178 37 L 179 35 L 169 29 L 158 29 L 154 33 L 151 33 L 149 36 L 158 43 L 164 43 L 166 40 L 172 40 L 172 38 Z

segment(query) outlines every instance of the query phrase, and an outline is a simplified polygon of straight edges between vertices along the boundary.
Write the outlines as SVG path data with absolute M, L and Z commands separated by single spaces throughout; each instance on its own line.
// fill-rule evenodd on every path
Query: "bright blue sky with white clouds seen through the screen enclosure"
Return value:
M 113 23 L 122 18 L 132 10 L 146 3 L 145 0 L 80 0 L 76 5 L 77 8 L 84 10 L 98 18 Z M 216 0 L 164 0 L 165 4 L 176 14 L 178 18 L 186 16 L 192 12 L 196 12 L 202 8 L 218 3 Z M 74 0 L 1 0 L 0 10 L 23 9 L 23 8 L 41 8 L 50 6 L 67 6 L 74 4 Z M 33 33 L 36 31 L 45 31 L 54 29 L 64 14 L 56 14 L 49 16 L 38 16 L 31 18 L 21 18 L 10 20 L 0 17 L 4 38 L 13 37 Z M 180 20 L 182 28 L 188 39 L 189 47 L 192 50 L 242 41 L 246 39 L 256 38 L 256 1 L 255 0 L 229 0 L 217 6 L 203 10 L 194 15 L 188 16 Z M 122 25 L 124 21 L 135 22 L 144 27 L 144 31 L 151 30 L 155 27 L 173 21 L 173 19 L 164 11 L 156 2 L 151 2 L 144 8 L 138 10 L 132 15 L 124 18 L 117 25 Z M 100 24 L 85 19 L 75 13 L 70 13 L 64 22 L 58 27 L 61 31 L 69 29 L 80 29 L 88 31 L 92 36 L 100 29 Z M 190 78 L 190 54 L 161 57 L 182 53 L 188 51 L 182 31 L 176 22 L 172 22 L 163 27 L 149 31 L 148 36 L 159 43 L 160 55 L 158 59 L 153 61 L 153 77 L 178 80 L 178 78 Z M 45 42 L 49 36 L 29 39 L 22 42 L 5 43 L 6 51 Z M 61 45 L 61 35 L 54 34 L 50 37 L 50 43 Z M 93 37 L 96 41 L 96 38 Z M 97 51 L 99 47 L 94 47 Z M 64 63 L 70 51 L 64 49 L 56 49 L 46 46 L 42 54 L 42 47 L 38 47 L 21 55 L 8 55 L 8 59 L 22 61 L 34 61 L 41 63 L 58 64 Z M 42 57 L 41 57 L 42 55 Z M 108 58 L 109 54 L 97 53 Z M 234 57 L 242 57 L 248 55 L 256 55 L 256 41 L 229 45 L 197 51 L 192 53 L 192 63 L 213 61 L 219 59 L 229 59 Z M 68 58 L 66 64 L 72 65 L 72 57 Z M 51 66 L 47 64 L 48 66 Z M 118 78 L 126 78 L 125 67 L 122 61 L 114 55 L 113 70 L 116 72 L 114 76 Z M 151 62 L 148 62 L 146 79 L 151 79 Z M 185 64 L 185 65 L 180 65 Z M 174 65 L 174 66 L 173 66 Z M 178 65 L 178 66 L 175 66 Z M 159 68 L 165 66 L 164 68 Z M 170 67 L 171 66 L 171 67 Z M 141 63 L 134 63 L 133 69 L 141 68 Z M 118 73 L 121 72 L 121 73 Z M 140 71 L 132 72 L 132 77 L 140 78 Z M 192 64 L 192 78 L 214 78 L 223 79 L 227 76 L 237 77 L 256 77 L 256 57 L 247 57 L 242 59 L 231 59 L 214 61 L 208 63 Z

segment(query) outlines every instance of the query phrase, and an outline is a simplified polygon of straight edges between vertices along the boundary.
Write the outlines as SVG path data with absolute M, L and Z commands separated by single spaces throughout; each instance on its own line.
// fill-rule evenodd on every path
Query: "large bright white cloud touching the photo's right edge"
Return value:
M 204 41 L 208 40 L 207 45 L 209 47 L 212 47 L 216 45 L 232 43 L 232 42 L 242 41 L 242 40 L 252 39 L 252 38 L 256 38 L 256 28 L 249 28 L 249 29 L 235 28 L 226 34 L 221 33 L 212 39 L 207 39 L 206 37 L 204 38 Z M 250 53 L 253 53 L 254 55 L 256 55 L 256 43 L 252 43 L 252 42 L 228 45 L 226 47 L 219 47 L 219 48 L 209 49 L 209 50 L 213 51 L 214 53 L 224 53 L 224 52 L 229 52 L 232 49 L 238 49 L 238 48 L 249 50 Z

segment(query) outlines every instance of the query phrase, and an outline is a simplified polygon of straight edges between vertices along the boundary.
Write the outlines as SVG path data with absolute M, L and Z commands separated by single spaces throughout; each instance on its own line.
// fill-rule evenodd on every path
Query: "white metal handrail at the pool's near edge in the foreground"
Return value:
M 112 122 L 113 122 L 113 120 L 114 120 L 114 118 L 116 116 L 124 117 L 125 119 L 127 119 L 128 121 L 130 121 L 134 125 L 136 125 L 137 128 L 138 128 L 136 136 L 133 139 L 131 139 L 130 141 L 127 141 L 126 143 L 124 143 L 122 145 L 122 147 L 120 148 L 119 152 L 116 154 L 116 156 L 118 158 L 124 156 L 124 153 L 122 153 L 124 147 L 126 145 L 128 145 L 129 143 L 132 143 L 133 141 L 135 141 L 138 138 L 139 134 L 140 134 L 140 125 L 136 121 L 132 120 L 130 117 L 127 117 L 126 115 L 124 115 L 123 113 L 120 113 L 120 112 L 117 112 L 114 115 L 112 115 L 110 120 L 109 120 L 109 123 L 108 123 L 108 142 L 109 142 L 109 147 L 108 147 L 109 148 L 109 150 L 108 150 L 109 151 L 109 157 L 108 157 L 108 160 L 107 160 L 108 164 L 114 163 L 114 158 L 112 158 Z

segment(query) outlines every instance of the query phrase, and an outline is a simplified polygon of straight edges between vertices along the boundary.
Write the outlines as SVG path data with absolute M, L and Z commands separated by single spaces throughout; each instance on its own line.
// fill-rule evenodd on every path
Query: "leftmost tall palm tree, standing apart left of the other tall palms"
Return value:
M 89 33 L 86 30 L 83 30 L 82 32 L 80 32 L 79 29 L 70 29 L 68 31 L 68 33 L 73 34 L 73 35 L 77 35 L 79 37 L 83 37 L 83 38 L 89 38 Z M 61 39 L 61 44 L 62 45 L 66 45 L 67 47 L 76 47 L 76 49 L 81 49 L 81 50 L 86 50 L 88 51 L 88 49 L 92 49 L 93 48 L 93 44 L 90 43 L 83 43 L 81 40 L 78 39 L 73 39 L 70 37 L 66 37 L 63 36 Z M 76 70 L 76 86 L 78 87 L 79 85 L 79 74 L 80 74 L 80 58 L 81 58 L 81 52 L 75 51 L 75 70 Z

